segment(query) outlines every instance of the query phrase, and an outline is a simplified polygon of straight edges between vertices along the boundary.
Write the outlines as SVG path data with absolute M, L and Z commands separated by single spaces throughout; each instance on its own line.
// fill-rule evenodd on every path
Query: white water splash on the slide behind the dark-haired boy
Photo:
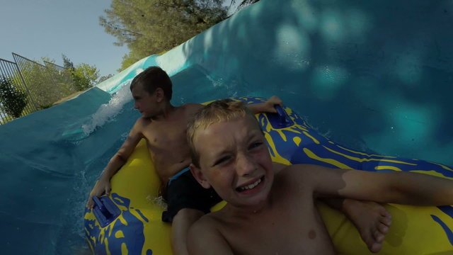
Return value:
M 122 111 L 122 107 L 132 101 L 132 94 L 130 93 L 130 82 L 132 79 L 125 81 L 124 86 L 115 94 L 108 103 L 104 103 L 99 107 L 98 111 L 91 115 L 88 123 L 82 125 L 85 135 L 91 134 L 96 128 L 102 127 L 110 120 L 114 120 L 115 116 Z

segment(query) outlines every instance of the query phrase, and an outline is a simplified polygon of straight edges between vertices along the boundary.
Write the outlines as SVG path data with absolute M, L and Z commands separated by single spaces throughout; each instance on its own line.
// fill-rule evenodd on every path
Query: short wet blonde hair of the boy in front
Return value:
M 214 101 L 195 113 L 195 117 L 188 124 L 187 138 L 190 148 L 192 163 L 200 168 L 200 154 L 197 153 L 193 140 L 197 130 L 205 130 L 214 123 L 225 122 L 250 115 L 255 118 L 241 101 L 222 99 Z M 258 123 L 257 123 L 258 125 Z

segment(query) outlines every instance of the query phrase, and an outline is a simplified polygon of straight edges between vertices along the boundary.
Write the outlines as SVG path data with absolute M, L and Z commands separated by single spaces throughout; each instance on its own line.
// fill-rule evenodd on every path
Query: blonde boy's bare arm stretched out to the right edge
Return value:
M 304 183 L 313 183 L 314 193 L 408 205 L 452 205 L 453 181 L 408 172 L 328 169 L 303 166 Z

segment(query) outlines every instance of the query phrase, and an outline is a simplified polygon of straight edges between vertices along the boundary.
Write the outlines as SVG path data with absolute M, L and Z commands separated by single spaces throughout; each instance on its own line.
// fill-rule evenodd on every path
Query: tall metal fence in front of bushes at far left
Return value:
M 0 59 L 0 125 L 78 91 L 64 67 L 47 61 L 43 65 L 16 53 L 13 59 Z

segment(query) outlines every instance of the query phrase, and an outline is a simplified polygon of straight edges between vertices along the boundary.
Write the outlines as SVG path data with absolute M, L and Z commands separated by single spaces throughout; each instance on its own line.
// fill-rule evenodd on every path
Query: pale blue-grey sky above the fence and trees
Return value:
M 94 65 L 100 77 L 117 74 L 126 46 L 105 33 L 99 16 L 110 0 L 0 0 L 0 58 L 11 52 L 41 62 L 63 65 L 62 54 L 76 64 Z M 42 63 L 42 62 L 41 62 Z

